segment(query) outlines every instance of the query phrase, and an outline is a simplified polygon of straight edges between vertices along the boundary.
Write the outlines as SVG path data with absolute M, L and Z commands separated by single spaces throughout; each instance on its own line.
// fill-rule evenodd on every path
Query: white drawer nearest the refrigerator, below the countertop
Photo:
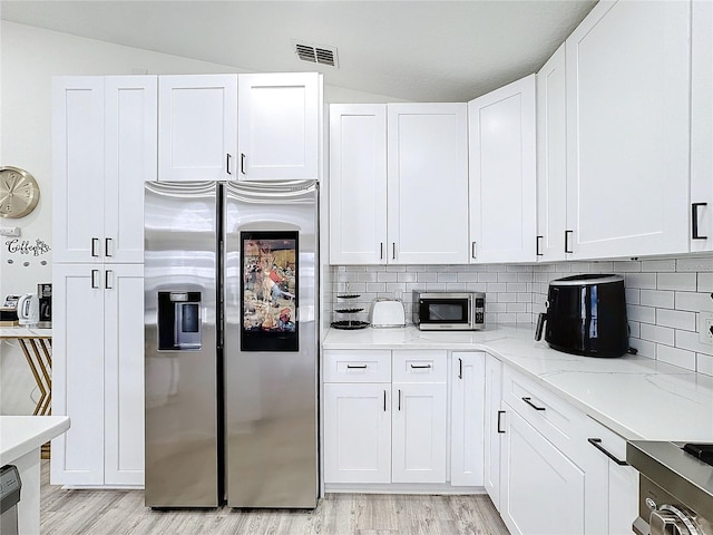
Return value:
M 324 382 L 391 382 L 391 351 L 326 350 Z

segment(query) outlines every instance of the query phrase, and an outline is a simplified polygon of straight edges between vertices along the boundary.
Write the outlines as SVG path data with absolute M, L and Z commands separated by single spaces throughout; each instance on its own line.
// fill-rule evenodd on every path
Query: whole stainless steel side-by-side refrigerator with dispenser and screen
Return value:
M 314 507 L 318 184 L 145 192 L 146 505 Z

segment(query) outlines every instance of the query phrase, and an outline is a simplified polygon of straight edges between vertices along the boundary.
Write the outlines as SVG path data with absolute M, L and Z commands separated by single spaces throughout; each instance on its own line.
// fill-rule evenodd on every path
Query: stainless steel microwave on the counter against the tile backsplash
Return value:
M 413 323 L 422 331 L 479 331 L 486 328 L 486 294 L 413 292 Z

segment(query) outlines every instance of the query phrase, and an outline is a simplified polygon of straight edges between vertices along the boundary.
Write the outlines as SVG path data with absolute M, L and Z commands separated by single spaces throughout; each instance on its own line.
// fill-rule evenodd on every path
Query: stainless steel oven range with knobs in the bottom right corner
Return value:
M 626 460 L 639 473 L 634 533 L 713 535 L 713 466 L 663 441 L 629 441 Z

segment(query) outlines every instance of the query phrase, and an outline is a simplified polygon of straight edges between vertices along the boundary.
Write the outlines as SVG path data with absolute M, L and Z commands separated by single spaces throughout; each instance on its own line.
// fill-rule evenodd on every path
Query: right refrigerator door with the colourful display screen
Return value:
M 316 505 L 316 187 L 312 181 L 225 186 L 231 507 Z

